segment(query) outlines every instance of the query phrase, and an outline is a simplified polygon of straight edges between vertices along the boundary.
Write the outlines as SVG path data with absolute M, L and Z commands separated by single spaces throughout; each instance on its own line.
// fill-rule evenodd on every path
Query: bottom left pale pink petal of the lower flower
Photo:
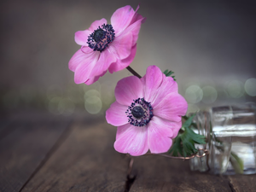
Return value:
M 148 152 L 148 129 L 146 126 L 137 127 L 130 124 L 118 127 L 114 148 L 119 153 L 133 156 Z

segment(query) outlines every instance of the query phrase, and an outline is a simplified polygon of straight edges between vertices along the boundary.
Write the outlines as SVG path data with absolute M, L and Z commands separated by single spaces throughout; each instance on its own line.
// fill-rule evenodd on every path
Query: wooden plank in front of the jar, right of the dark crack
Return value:
M 191 172 L 189 161 L 160 156 L 137 157 L 132 174 L 137 175 L 132 192 L 231 191 L 227 177 Z

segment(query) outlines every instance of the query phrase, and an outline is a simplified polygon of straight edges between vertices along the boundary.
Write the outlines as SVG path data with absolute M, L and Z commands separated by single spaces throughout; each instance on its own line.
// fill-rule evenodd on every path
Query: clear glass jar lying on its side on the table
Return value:
M 196 133 L 204 135 L 209 155 L 189 160 L 190 169 L 213 174 L 256 173 L 255 103 L 210 108 L 195 115 Z

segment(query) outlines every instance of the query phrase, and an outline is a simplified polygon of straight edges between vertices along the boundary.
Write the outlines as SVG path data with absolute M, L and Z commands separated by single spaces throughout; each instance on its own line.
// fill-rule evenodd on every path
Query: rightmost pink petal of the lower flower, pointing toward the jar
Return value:
M 177 93 L 168 94 L 162 101 L 153 107 L 153 113 L 163 119 L 179 122 L 185 115 L 188 103 L 183 96 Z

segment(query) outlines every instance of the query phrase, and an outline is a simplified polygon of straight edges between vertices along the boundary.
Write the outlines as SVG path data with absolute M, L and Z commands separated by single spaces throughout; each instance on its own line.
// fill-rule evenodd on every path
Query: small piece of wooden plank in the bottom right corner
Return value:
M 229 176 L 231 188 L 234 191 L 256 191 L 256 174 Z

